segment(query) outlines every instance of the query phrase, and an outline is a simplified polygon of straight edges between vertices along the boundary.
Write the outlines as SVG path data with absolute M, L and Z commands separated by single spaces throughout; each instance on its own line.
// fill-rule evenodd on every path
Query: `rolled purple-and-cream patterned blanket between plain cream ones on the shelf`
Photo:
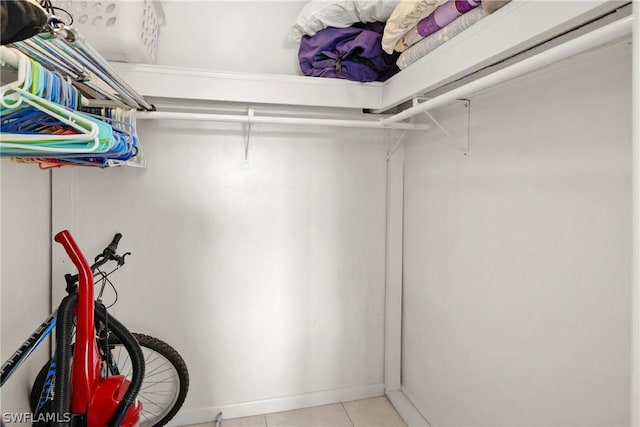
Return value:
M 427 16 L 418 25 L 409 30 L 395 46 L 398 52 L 404 52 L 422 40 L 435 33 L 445 25 L 450 24 L 460 15 L 475 9 L 480 5 L 480 0 L 449 0 L 438 7 L 431 15 Z

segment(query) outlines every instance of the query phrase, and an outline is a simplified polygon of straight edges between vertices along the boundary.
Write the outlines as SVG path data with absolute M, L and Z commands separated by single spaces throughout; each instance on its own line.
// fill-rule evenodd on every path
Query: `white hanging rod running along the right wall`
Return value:
M 620 19 L 604 27 L 593 30 L 585 35 L 576 37 L 575 39 L 572 39 L 561 45 L 552 47 L 549 50 L 541 52 L 535 56 L 523 59 L 516 64 L 510 65 L 494 73 L 481 77 L 478 80 L 474 80 L 463 86 L 457 87 L 453 90 L 450 90 L 449 92 L 436 96 L 435 98 L 431 98 L 428 101 L 425 101 L 415 107 L 408 108 L 398 114 L 386 117 L 382 119 L 381 122 L 383 125 L 398 123 L 420 113 L 424 113 L 425 111 L 442 107 L 446 104 L 449 104 L 450 102 L 455 101 L 456 99 L 467 98 L 469 95 L 480 90 L 487 89 L 500 83 L 504 83 L 508 80 L 520 77 L 524 74 L 557 62 L 561 59 L 568 58 L 572 55 L 584 52 L 587 49 L 591 49 L 595 46 L 622 37 L 631 32 L 632 24 L 632 16 Z

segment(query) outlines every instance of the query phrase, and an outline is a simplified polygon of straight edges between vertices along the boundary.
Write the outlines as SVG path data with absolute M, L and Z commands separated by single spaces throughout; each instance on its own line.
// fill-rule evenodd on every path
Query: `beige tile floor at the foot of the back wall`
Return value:
M 189 427 L 213 427 L 213 422 Z M 233 418 L 221 427 L 406 427 L 385 396 L 293 411 Z

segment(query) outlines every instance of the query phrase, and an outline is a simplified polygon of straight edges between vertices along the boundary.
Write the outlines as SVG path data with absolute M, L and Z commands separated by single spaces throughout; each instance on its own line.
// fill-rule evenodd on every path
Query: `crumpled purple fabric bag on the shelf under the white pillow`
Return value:
M 359 82 L 384 81 L 400 71 L 398 55 L 382 50 L 384 23 L 328 27 L 300 41 L 298 60 L 306 76 Z

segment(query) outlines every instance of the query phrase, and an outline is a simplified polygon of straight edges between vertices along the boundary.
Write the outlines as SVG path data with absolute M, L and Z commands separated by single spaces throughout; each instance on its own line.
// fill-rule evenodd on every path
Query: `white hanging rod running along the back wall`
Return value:
M 278 125 L 300 125 L 300 126 L 331 126 L 369 129 L 400 129 L 400 130 L 427 130 L 428 124 L 423 123 L 389 123 L 384 124 L 384 119 L 378 120 L 344 120 L 344 119 L 318 119 L 304 117 L 276 117 L 276 116 L 250 116 L 247 114 L 204 114 L 204 113 L 180 113 L 166 111 L 140 111 L 136 114 L 136 119 L 154 120 L 187 120 L 204 122 L 226 122 L 226 123 L 264 123 Z

